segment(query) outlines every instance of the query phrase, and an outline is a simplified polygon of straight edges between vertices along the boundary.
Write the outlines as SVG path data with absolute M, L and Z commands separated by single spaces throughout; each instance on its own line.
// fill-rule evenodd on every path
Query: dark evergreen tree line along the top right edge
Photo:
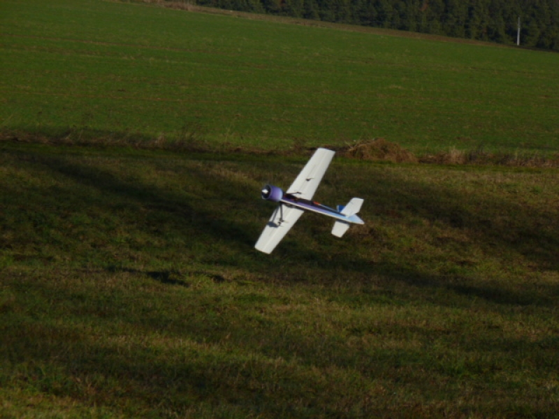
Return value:
M 559 0 L 195 0 L 200 6 L 559 50 Z

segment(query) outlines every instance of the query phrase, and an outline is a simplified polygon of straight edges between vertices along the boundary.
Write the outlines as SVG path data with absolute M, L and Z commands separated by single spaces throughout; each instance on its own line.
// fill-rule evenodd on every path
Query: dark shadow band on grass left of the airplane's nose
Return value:
M 27 154 L 27 155 L 26 155 Z M 222 221 L 219 219 L 220 211 L 224 205 L 235 205 L 239 208 L 246 207 L 246 202 L 241 198 L 235 198 L 232 191 L 238 190 L 238 186 L 234 182 L 212 182 L 211 175 L 194 167 L 182 167 L 184 177 L 191 179 L 196 184 L 206 184 L 206 192 L 212 194 L 212 205 L 206 205 L 204 198 L 187 199 L 172 191 L 165 190 L 153 184 L 145 182 L 124 180 L 119 177 L 119 170 L 106 170 L 105 168 L 96 167 L 94 164 L 84 161 L 83 163 L 75 163 L 75 159 L 68 159 L 64 156 L 56 156 L 44 154 L 43 152 L 27 152 L 21 156 L 23 159 L 31 162 L 31 165 L 41 167 L 42 170 L 50 172 L 52 175 L 63 175 L 67 179 L 71 179 L 75 184 L 75 189 L 58 189 L 58 196 L 48 197 L 50 200 L 57 200 L 64 206 L 64 203 L 80 203 L 83 207 L 75 208 L 76 212 L 87 210 L 85 206 L 95 205 L 102 207 L 106 213 L 115 212 L 126 209 L 129 206 L 131 210 L 147 209 L 157 213 L 158 219 L 167 224 L 177 232 L 182 233 L 184 237 L 191 237 L 194 240 L 205 240 L 208 235 L 215 240 L 231 241 L 233 244 L 244 242 L 252 243 L 253 237 L 247 234 L 247 228 L 242 223 L 231 221 Z M 86 159 L 87 160 L 87 159 Z M 120 163 L 118 158 L 113 163 Z M 154 163 L 150 161 L 150 164 Z M 126 161 L 122 161 L 126 164 Z M 157 165 L 157 163 L 155 163 Z M 164 165 L 164 162 L 159 164 Z M 188 185 L 185 186 L 188 188 Z M 91 191 L 99 191 L 103 196 L 91 198 Z M 220 194 L 228 195 L 222 199 Z M 221 200 L 222 203 L 218 201 Z M 131 205 L 132 204 L 132 205 Z M 134 206 L 133 204 L 138 204 Z M 79 205 L 79 203 L 78 203 Z M 140 214 L 124 214 L 126 217 L 122 219 L 124 227 L 135 225 L 133 216 Z M 148 228 L 151 227 L 151 228 Z M 137 226 L 136 228 L 147 228 L 147 233 L 157 234 L 157 226 L 147 226 L 146 224 Z M 192 230 L 198 230 L 200 234 L 192 236 Z M 205 237 L 204 237 L 205 236 Z

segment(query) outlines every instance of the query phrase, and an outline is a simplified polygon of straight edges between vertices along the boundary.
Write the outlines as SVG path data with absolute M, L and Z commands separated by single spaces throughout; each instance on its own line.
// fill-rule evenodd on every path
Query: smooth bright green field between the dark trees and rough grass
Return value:
M 558 54 L 101 0 L 0 7 L 5 137 L 558 149 Z

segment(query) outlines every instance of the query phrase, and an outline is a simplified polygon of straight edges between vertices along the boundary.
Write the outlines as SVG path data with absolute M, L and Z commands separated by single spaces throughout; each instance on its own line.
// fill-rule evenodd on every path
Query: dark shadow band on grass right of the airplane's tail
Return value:
M 394 170 L 377 173 L 368 184 L 371 196 L 382 196 L 381 214 L 416 216 L 449 230 L 460 230 L 488 253 L 531 260 L 538 270 L 559 270 L 559 223 L 556 207 L 536 207 L 511 197 L 451 189 L 428 180 L 403 178 Z M 386 200 L 389 193 L 400 198 Z M 555 212 L 555 214 L 554 214 Z M 444 242 L 441 243 L 444 247 Z M 514 265 L 514 260 L 510 260 Z

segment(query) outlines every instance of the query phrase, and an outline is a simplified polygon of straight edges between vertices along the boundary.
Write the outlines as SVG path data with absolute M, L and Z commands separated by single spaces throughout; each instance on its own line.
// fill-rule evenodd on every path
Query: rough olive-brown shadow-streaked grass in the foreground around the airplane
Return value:
M 557 417 L 556 170 L 0 147 L 0 416 Z

